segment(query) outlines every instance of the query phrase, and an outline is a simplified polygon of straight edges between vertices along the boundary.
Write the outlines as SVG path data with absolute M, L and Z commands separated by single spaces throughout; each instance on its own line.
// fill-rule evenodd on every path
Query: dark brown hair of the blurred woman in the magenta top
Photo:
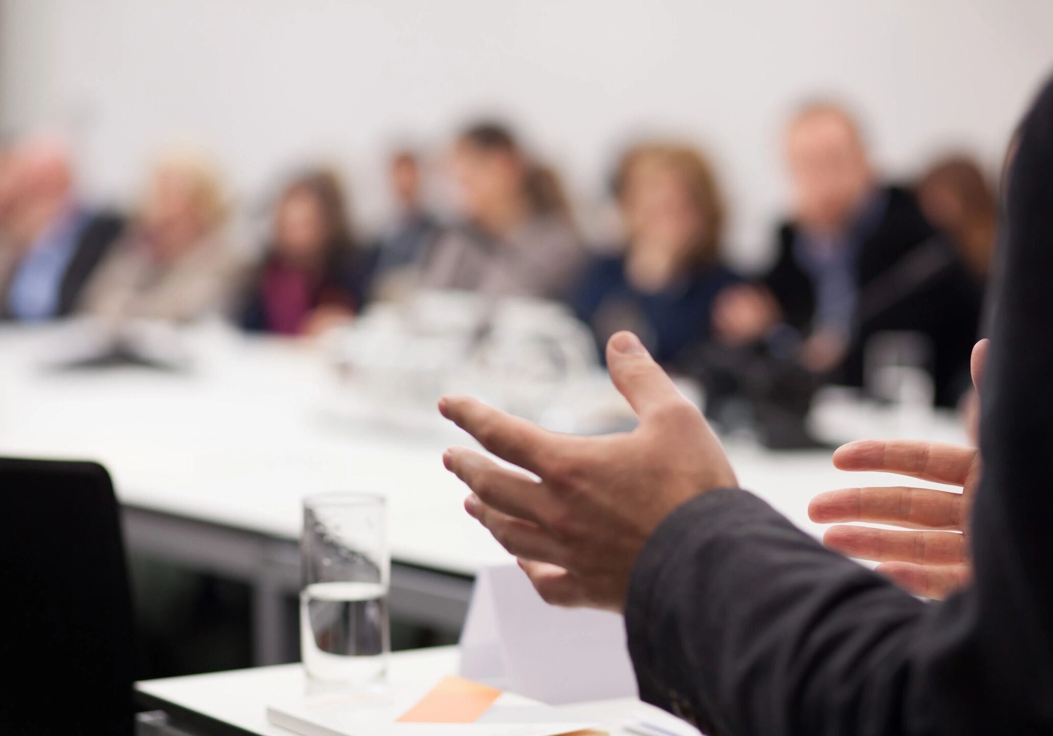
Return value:
M 302 194 L 313 197 L 318 202 L 325 222 L 325 241 L 318 263 L 319 278 L 322 282 L 340 278 L 356 252 L 354 231 L 347 214 L 346 192 L 340 177 L 332 170 L 318 168 L 305 172 L 290 181 L 278 198 L 278 206 L 275 210 L 276 231 L 284 203 L 290 198 Z M 272 244 L 269 262 L 273 262 L 276 257 L 277 247 Z

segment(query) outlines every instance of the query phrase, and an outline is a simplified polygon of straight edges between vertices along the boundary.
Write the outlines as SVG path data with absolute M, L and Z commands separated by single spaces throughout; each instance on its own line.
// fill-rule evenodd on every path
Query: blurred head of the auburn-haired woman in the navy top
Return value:
M 661 250 L 682 266 L 719 256 L 723 198 L 697 148 L 667 142 L 633 146 L 621 158 L 615 191 L 631 250 Z

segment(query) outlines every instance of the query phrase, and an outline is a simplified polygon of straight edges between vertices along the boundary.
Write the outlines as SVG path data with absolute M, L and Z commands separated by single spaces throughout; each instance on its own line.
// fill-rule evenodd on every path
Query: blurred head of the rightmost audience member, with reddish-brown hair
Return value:
M 971 268 L 986 274 L 994 255 L 998 206 L 994 188 L 970 156 L 942 158 L 920 177 L 918 201 Z

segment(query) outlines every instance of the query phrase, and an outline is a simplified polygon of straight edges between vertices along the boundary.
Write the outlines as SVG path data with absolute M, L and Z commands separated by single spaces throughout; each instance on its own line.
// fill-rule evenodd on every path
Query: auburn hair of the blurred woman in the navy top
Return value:
M 647 162 L 679 173 L 691 191 L 695 206 L 702 213 L 706 233 L 688 254 L 689 262 L 701 264 L 717 260 L 727 210 L 710 160 L 698 148 L 682 143 L 648 141 L 633 145 L 621 155 L 613 180 L 615 197 L 622 207 L 633 170 Z

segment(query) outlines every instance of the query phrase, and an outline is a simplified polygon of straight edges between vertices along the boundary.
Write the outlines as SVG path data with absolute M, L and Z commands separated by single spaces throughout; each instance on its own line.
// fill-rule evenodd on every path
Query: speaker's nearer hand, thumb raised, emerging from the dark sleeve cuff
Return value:
M 659 522 L 736 481 L 709 423 L 636 336 L 614 335 L 607 357 L 639 418 L 629 433 L 559 435 L 460 396 L 443 397 L 439 411 L 517 466 L 464 447 L 442 458 L 472 490 L 468 513 L 519 559 L 541 597 L 620 612 L 633 563 Z

